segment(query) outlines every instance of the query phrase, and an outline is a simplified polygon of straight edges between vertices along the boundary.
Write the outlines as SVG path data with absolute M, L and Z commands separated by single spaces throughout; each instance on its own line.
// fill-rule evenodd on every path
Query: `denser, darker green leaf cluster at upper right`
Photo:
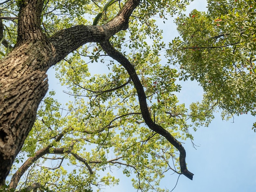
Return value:
M 255 6 L 251 0 L 209 1 L 208 13 L 177 18 L 181 37 L 169 44 L 180 79 L 197 80 L 223 117 L 256 112 Z

